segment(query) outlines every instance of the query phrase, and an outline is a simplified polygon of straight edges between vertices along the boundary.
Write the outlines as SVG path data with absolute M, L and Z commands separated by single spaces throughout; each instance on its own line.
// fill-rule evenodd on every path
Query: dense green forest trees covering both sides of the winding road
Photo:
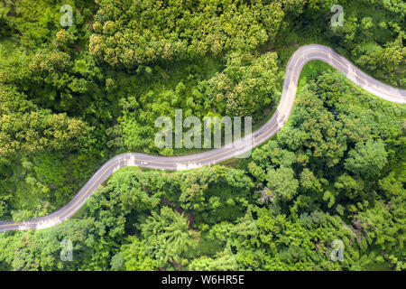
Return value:
M 342 27 L 329 25 L 337 2 Z M 185 153 L 153 143 L 176 108 L 260 123 L 302 44 L 404 88 L 404 2 L 337 2 L 0 3 L 0 219 L 60 208 L 115 154 Z M 67 4 L 74 25 L 61 27 Z M 404 270 L 405 119 L 309 63 L 287 126 L 250 158 L 115 172 L 74 219 L 0 234 L 0 270 Z M 329 259 L 333 239 L 344 261 Z

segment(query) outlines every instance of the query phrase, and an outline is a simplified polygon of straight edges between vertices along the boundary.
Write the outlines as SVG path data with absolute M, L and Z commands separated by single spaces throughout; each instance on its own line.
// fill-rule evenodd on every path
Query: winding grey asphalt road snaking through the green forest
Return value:
M 227 159 L 249 152 L 259 144 L 263 144 L 272 135 L 275 135 L 286 123 L 291 115 L 296 89 L 300 78 L 300 71 L 309 61 L 324 61 L 335 69 L 343 72 L 347 79 L 357 86 L 373 93 L 379 98 L 391 102 L 406 103 L 406 90 L 392 88 L 382 82 L 371 78 L 363 71 L 357 69 L 346 58 L 338 55 L 331 48 L 323 45 L 310 44 L 300 47 L 293 53 L 286 66 L 285 79 L 281 93 L 281 100 L 276 112 L 265 125 L 232 144 L 213 149 L 200 154 L 185 156 L 155 156 L 149 154 L 119 154 L 104 163 L 88 182 L 78 191 L 76 196 L 67 205 L 50 215 L 31 219 L 21 223 L 0 222 L 0 232 L 10 230 L 51 228 L 72 217 L 85 203 L 88 197 L 105 182 L 110 175 L 125 166 L 140 166 L 159 170 L 189 170 L 210 164 L 220 163 Z M 142 164 L 147 163 L 147 164 Z

